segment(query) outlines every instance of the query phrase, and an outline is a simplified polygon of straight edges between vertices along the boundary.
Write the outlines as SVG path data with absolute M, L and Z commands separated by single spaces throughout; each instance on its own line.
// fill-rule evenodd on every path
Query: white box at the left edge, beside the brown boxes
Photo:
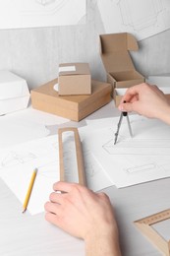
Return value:
M 28 107 L 27 81 L 10 71 L 0 71 L 0 115 Z

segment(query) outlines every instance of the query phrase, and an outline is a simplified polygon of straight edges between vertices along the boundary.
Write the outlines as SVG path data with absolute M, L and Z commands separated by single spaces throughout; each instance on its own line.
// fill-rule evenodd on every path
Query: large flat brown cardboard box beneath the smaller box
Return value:
M 74 121 L 80 121 L 111 100 L 111 85 L 91 81 L 90 96 L 59 96 L 58 79 L 30 91 L 32 107 Z

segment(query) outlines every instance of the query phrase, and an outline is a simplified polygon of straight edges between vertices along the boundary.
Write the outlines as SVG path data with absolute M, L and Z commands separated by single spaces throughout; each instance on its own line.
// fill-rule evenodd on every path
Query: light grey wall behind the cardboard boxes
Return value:
M 98 34 L 104 29 L 96 2 L 87 0 L 85 25 L 1 30 L 0 69 L 25 78 L 32 89 L 56 78 L 59 63 L 88 62 L 92 78 L 104 81 L 98 44 Z M 170 30 L 139 45 L 140 50 L 132 53 L 138 71 L 144 76 L 170 73 Z

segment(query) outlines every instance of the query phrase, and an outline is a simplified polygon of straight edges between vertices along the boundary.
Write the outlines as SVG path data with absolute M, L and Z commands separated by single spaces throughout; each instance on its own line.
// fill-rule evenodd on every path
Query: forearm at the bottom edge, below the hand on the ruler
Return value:
M 115 233 L 106 235 L 89 235 L 85 239 L 85 256 L 121 256 L 118 236 Z

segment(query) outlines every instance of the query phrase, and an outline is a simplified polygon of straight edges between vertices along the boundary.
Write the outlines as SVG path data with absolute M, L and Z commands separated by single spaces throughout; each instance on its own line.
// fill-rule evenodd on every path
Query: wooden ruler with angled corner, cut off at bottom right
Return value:
M 170 209 L 135 222 L 142 233 L 166 256 L 170 256 L 170 241 L 166 241 L 151 225 L 168 219 L 170 219 Z

